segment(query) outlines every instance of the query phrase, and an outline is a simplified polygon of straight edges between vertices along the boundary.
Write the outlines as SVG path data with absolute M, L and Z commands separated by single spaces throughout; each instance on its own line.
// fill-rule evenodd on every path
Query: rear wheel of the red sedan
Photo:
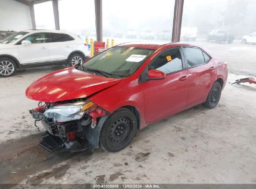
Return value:
M 209 91 L 207 99 L 204 103 L 202 103 L 202 105 L 210 109 L 215 108 L 219 103 L 220 95 L 221 95 L 221 85 L 219 82 L 216 81 L 214 85 L 212 85 L 212 88 Z

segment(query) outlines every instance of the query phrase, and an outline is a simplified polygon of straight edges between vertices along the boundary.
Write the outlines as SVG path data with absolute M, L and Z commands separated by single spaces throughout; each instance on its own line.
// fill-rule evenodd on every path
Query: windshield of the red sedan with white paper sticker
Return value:
M 133 74 L 153 52 L 145 48 L 113 47 L 83 63 L 82 69 L 109 77 L 125 77 Z

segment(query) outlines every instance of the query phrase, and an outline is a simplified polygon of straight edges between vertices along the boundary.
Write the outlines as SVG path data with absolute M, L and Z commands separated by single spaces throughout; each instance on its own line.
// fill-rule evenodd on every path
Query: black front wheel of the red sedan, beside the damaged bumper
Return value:
M 100 131 L 100 145 L 108 152 L 118 152 L 130 144 L 137 129 L 137 119 L 130 109 L 113 113 Z

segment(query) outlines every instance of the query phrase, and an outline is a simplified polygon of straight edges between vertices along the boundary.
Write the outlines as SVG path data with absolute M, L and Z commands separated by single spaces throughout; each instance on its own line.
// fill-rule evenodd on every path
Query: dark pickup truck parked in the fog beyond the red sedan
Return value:
M 228 44 L 231 44 L 234 39 L 235 35 L 230 34 L 228 30 L 212 30 L 206 40 L 214 40 L 218 43 L 227 42 Z

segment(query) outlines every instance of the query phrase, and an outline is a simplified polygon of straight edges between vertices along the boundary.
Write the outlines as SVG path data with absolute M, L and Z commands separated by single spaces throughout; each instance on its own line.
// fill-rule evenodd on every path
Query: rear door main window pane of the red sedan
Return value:
M 202 50 L 193 47 L 184 47 L 184 55 L 187 58 L 187 65 L 189 68 L 196 67 L 205 63 Z

